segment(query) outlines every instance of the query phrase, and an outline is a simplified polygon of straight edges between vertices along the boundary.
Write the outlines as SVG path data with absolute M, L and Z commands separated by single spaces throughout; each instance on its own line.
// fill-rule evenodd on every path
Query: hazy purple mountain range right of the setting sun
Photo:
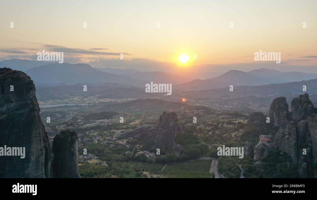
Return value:
M 223 75 L 206 80 L 195 79 L 191 82 L 175 85 L 176 90 L 206 90 L 241 85 L 265 85 L 273 83 L 287 83 L 317 78 L 315 73 L 280 72 L 261 68 L 250 72 L 230 70 Z

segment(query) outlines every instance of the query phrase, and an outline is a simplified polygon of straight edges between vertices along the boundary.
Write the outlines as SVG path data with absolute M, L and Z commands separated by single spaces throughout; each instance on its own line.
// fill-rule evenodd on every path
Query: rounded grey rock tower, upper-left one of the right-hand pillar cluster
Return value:
M 281 126 L 283 113 L 288 112 L 288 104 L 285 97 L 277 97 L 273 100 L 269 110 L 269 117 L 275 126 Z

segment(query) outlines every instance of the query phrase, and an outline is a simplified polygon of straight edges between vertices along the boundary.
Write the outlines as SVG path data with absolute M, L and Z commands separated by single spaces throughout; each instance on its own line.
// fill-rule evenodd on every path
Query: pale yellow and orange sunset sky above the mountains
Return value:
M 120 53 L 125 64 L 112 67 L 132 68 L 132 59 L 154 63 L 155 70 L 162 63 L 181 66 L 182 53 L 190 57 L 187 68 L 252 66 L 262 50 L 281 52 L 281 66 L 316 66 L 316 8 L 314 0 L 2 2 L 0 61 L 36 60 L 46 50 L 98 67 L 118 61 Z

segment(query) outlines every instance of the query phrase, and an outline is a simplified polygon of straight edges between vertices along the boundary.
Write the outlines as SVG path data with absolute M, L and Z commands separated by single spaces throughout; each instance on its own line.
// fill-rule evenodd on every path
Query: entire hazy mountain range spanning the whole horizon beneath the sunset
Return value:
M 119 86 L 144 88 L 145 84 L 173 84 L 172 89 L 178 91 L 206 90 L 242 85 L 265 85 L 288 83 L 317 78 L 316 73 L 280 72 L 261 68 L 249 72 L 230 70 L 218 77 L 205 80 L 189 78 L 182 72 L 171 74 L 166 72 L 139 72 L 133 69 L 93 68 L 87 64 L 48 63 L 22 59 L 3 60 L 0 67 L 20 70 L 34 80 L 36 86 L 50 87 L 57 84 L 92 84 L 113 83 Z M 112 72 L 112 73 L 110 73 Z M 119 85 L 116 85 L 119 84 Z

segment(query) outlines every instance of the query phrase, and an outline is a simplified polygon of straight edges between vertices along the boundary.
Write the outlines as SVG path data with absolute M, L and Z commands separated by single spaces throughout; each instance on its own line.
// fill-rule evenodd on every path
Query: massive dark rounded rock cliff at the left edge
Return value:
M 25 158 L 0 156 L 0 178 L 50 178 L 48 136 L 31 78 L 0 68 L 0 147 L 25 147 Z

